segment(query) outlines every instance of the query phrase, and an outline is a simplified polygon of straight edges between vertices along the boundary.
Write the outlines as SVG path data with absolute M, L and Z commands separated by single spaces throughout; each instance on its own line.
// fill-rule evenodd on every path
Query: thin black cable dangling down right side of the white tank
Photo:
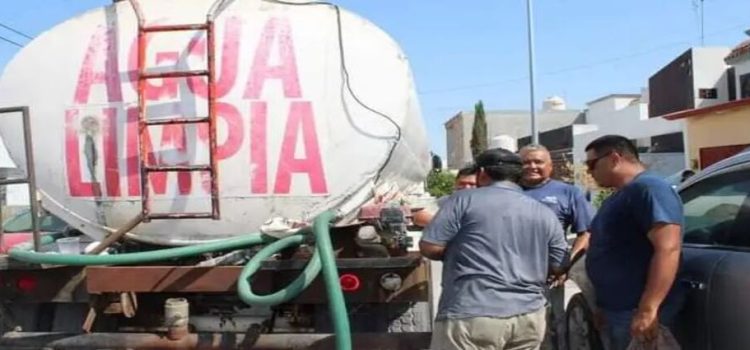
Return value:
M 383 165 L 378 169 L 378 174 L 375 177 L 375 183 L 380 180 L 380 175 L 383 173 L 383 170 L 386 166 L 388 166 L 388 163 L 391 161 L 391 158 L 393 157 L 393 153 L 396 151 L 396 147 L 398 146 L 399 142 L 401 141 L 401 126 L 396 123 L 391 117 L 386 115 L 383 112 L 380 112 L 370 106 L 368 106 L 366 103 L 362 102 L 362 100 L 359 99 L 359 96 L 354 92 L 352 89 L 352 86 L 349 82 L 349 70 L 346 66 L 346 56 L 344 55 L 344 34 L 342 30 L 341 25 L 341 9 L 338 5 L 327 2 L 327 1 L 312 1 L 312 2 L 288 2 L 288 1 L 282 1 L 282 0 L 264 0 L 271 3 L 277 3 L 281 5 L 289 5 L 289 6 L 330 6 L 333 7 L 333 9 L 336 11 L 336 28 L 338 32 L 338 44 L 339 44 L 339 56 L 341 57 L 341 74 L 344 78 L 344 86 L 346 86 L 347 91 L 349 91 L 349 95 L 354 98 L 354 101 L 356 101 L 360 106 L 365 108 L 366 110 L 375 113 L 386 120 L 388 120 L 393 126 L 396 128 L 396 137 L 394 137 L 395 142 L 393 143 L 393 147 L 391 147 L 390 151 L 388 152 L 388 157 L 386 157 L 385 162 Z

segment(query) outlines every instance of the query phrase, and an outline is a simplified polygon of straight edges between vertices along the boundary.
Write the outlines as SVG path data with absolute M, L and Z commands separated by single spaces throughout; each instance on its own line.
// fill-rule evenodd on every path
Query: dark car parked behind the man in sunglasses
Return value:
M 750 349 L 750 151 L 725 159 L 679 186 L 685 235 L 680 275 L 687 300 L 675 327 L 685 350 Z M 569 349 L 602 349 L 584 264 L 568 304 Z

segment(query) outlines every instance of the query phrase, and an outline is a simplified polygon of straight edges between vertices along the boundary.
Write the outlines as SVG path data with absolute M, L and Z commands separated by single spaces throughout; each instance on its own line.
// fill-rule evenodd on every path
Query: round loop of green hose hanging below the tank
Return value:
M 299 234 L 285 237 L 263 247 L 255 254 L 242 269 L 240 278 L 237 280 L 237 294 L 240 299 L 248 305 L 272 306 L 285 303 L 302 293 L 320 273 L 320 253 L 318 249 L 315 249 L 315 253 L 313 253 L 302 273 L 292 283 L 276 293 L 256 295 L 253 293 L 249 280 L 255 272 L 260 270 L 263 261 L 282 249 L 300 245 L 304 239 L 305 237 Z

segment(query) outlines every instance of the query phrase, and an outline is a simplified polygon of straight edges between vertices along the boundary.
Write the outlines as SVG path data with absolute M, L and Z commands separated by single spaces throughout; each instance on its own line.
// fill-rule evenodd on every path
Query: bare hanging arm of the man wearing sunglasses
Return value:
M 672 288 L 680 265 L 681 227 L 658 223 L 648 233 L 654 255 L 648 269 L 646 288 L 633 318 L 631 333 L 639 339 L 651 340 L 658 333 L 659 307 Z

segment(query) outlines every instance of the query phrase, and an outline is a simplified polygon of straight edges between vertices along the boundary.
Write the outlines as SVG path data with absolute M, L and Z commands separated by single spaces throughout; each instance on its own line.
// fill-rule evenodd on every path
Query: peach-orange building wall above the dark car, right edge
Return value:
M 695 164 L 700 164 L 701 148 L 750 144 L 750 107 L 690 117 L 686 122 L 687 157 Z

